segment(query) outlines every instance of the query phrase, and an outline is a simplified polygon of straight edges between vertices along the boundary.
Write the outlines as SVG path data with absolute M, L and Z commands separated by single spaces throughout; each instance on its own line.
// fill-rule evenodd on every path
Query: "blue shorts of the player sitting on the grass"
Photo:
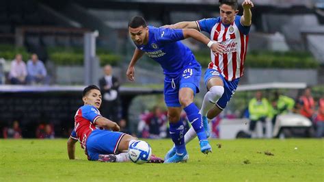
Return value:
M 118 153 L 117 148 L 124 135 L 125 133 L 105 129 L 92 131 L 85 145 L 87 159 L 97 161 L 100 154 Z

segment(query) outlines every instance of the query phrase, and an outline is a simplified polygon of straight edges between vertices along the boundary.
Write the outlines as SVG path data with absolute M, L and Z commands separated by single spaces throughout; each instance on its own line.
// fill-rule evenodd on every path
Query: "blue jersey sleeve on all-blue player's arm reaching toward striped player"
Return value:
M 161 42 L 176 42 L 185 39 L 183 29 L 161 28 L 156 36 L 157 40 Z

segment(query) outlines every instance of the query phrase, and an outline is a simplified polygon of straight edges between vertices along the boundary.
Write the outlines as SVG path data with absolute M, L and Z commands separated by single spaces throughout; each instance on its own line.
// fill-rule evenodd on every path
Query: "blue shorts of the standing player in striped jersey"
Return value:
M 209 79 L 213 77 L 220 77 L 221 80 L 223 80 L 224 83 L 224 94 L 221 96 L 221 98 L 218 99 L 216 105 L 219 107 L 219 109 L 224 110 L 230 99 L 232 98 L 232 95 L 234 94 L 235 90 L 237 90 L 237 85 L 239 84 L 240 79 L 234 79 L 232 81 L 227 81 L 224 79 L 223 75 L 219 74 L 219 72 L 215 69 L 206 69 L 205 75 L 204 75 L 204 82 L 205 86 L 207 87 L 207 83 Z

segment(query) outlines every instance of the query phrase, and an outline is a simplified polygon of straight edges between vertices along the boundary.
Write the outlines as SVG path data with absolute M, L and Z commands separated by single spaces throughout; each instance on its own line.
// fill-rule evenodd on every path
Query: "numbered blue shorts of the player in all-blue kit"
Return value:
M 191 88 L 193 94 L 199 93 L 199 82 L 202 67 L 198 64 L 187 66 L 177 77 L 164 78 L 164 101 L 167 107 L 181 107 L 179 102 L 180 88 Z

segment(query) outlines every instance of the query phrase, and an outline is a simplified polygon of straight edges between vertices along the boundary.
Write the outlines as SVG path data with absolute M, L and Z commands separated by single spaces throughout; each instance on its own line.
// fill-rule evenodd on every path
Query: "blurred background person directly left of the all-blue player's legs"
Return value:
M 152 112 L 145 118 L 148 125 L 149 138 L 165 138 L 167 116 L 159 106 L 154 106 Z

